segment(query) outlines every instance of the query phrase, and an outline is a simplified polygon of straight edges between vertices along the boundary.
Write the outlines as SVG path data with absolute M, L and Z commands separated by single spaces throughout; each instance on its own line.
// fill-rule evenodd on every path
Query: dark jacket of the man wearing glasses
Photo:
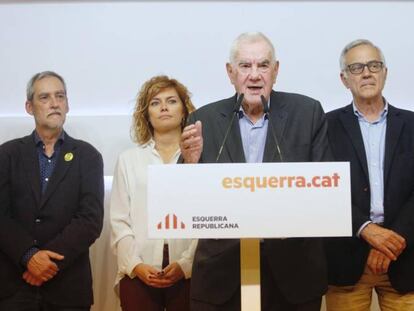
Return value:
M 354 236 L 370 220 L 368 166 L 358 119 L 352 105 L 327 114 L 328 136 L 337 161 L 351 163 Z M 384 154 L 384 227 L 402 235 L 407 248 L 391 262 L 388 274 L 401 293 L 414 290 L 414 113 L 388 106 Z M 353 285 L 369 253 L 362 238 L 335 238 L 326 243 L 329 283 Z

